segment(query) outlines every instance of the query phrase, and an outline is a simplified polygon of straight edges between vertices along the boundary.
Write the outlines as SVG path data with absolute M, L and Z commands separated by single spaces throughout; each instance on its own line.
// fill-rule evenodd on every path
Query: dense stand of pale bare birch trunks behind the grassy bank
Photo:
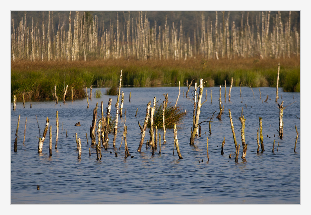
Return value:
M 184 59 L 202 56 L 204 59 L 236 57 L 280 58 L 300 55 L 300 32 L 290 23 L 291 12 L 286 23 L 282 22 L 281 12 L 270 17 L 269 12 L 258 12 L 256 26 L 249 24 L 249 12 L 241 14 L 241 26 L 235 21 L 229 23 L 230 11 L 222 12 L 222 22 L 206 20 L 202 14 L 201 26 L 191 34 L 194 41 L 183 33 L 180 26 L 165 21 L 165 26 L 150 23 L 143 12 L 138 17 L 119 22 L 114 31 L 110 21 L 108 27 L 100 26 L 98 17 L 77 11 L 75 17 L 69 13 L 69 30 L 65 30 L 65 21 L 59 21 L 57 29 L 53 26 L 53 11 L 48 12 L 48 20 L 34 23 L 26 22 L 26 13 L 17 23 L 12 19 L 11 59 L 45 60 L 89 60 L 89 59 Z M 59 14 L 58 14 L 59 16 Z M 72 19 L 73 18 L 73 19 Z M 270 20 L 272 18 L 272 21 Z M 60 20 L 60 18 L 59 18 Z M 103 23 L 103 22 L 102 22 Z M 273 26 L 270 26 L 273 23 Z M 188 35 L 188 34 L 187 34 Z

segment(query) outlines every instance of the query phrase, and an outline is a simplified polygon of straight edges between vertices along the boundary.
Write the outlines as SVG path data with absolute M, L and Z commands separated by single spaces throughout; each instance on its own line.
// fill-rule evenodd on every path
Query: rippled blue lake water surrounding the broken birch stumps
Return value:
M 200 122 L 219 112 L 219 87 L 204 88 L 200 114 Z M 212 103 L 210 92 L 212 89 Z M 161 133 L 161 154 L 159 146 L 152 155 L 152 148 L 146 149 L 149 140 L 149 129 L 146 132 L 141 152 L 137 152 L 141 139 L 138 121 L 143 124 L 146 115 L 146 105 L 149 101 L 163 101 L 163 93 L 169 93 L 168 100 L 174 105 L 178 95 L 178 87 L 156 88 L 121 88 L 124 92 L 123 118 L 119 118 L 120 131 L 117 133 L 116 147 L 112 147 L 113 134 L 109 134 L 109 146 L 103 148 L 102 159 L 97 160 L 95 146 L 91 146 L 90 125 L 93 118 L 93 108 L 98 102 L 104 103 L 106 111 L 109 98 L 112 98 L 111 113 L 115 114 L 117 96 L 103 95 L 94 98 L 96 88 L 93 88 L 93 98 L 87 108 L 86 99 L 74 102 L 54 101 L 16 104 L 13 111 L 11 103 L 11 203 L 12 204 L 299 204 L 300 203 L 300 93 L 282 92 L 279 88 L 279 99 L 286 107 L 283 114 L 284 136 L 278 138 L 279 108 L 275 103 L 276 88 L 260 88 L 263 101 L 269 95 L 267 103 L 259 99 L 259 89 L 242 87 L 240 97 L 239 87 L 231 90 L 231 101 L 228 102 L 229 87 L 225 102 L 225 87 L 222 86 L 222 102 L 224 113 L 222 120 L 214 118 L 211 123 L 212 134 L 209 135 L 208 122 L 201 124 L 202 136 L 196 137 L 195 144 L 190 146 L 192 127 L 192 102 L 186 96 L 187 87 L 181 87 L 178 106 L 187 114 L 177 131 L 179 148 L 183 159 L 179 159 L 176 150 L 173 155 L 173 129 L 167 128 L 166 143 L 163 144 L 163 129 Z M 102 93 L 105 88 L 101 88 Z M 131 92 L 131 102 L 129 93 Z M 89 93 L 88 93 L 89 94 Z M 189 92 L 189 96 L 192 94 Z M 282 98 L 281 98 L 282 96 Z M 241 103 L 243 99 L 243 103 Z M 60 99 L 61 100 L 61 99 Z M 192 100 L 192 98 L 191 98 Z M 121 101 L 121 98 L 120 98 Z M 121 103 L 121 102 L 120 102 Z M 245 107 L 247 105 L 247 107 Z M 152 104 L 151 104 L 152 107 Z M 242 143 L 240 128 L 243 107 L 245 122 L 245 142 L 248 144 L 246 159 L 241 159 Z M 119 150 L 124 123 L 124 112 L 127 108 L 126 125 L 128 126 L 127 144 L 130 154 L 134 157 L 124 157 L 124 141 Z M 138 108 L 137 117 L 135 117 Z M 228 108 L 231 109 L 233 124 L 238 144 L 240 144 L 239 160 L 234 162 L 235 147 L 231 132 Z M 57 150 L 56 111 L 59 112 L 59 136 Z M 17 137 L 17 152 L 14 152 L 15 132 L 18 115 L 21 114 Z M 43 153 L 38 154 L 39 130 L 41 136 L 46 117 L 52 125 L 52 157 L 49 157 L 49 132 L 43 145 Z M 27 117 L 25 145 L 22 144 Z M 263 143 L 265 151 L 257 153 L 257 128 L 259 117 L 262 117 Z M 77 122 L 81 123 L 76 127 Z M 63 123 L 63 128 L 62 128 Z M 299 133 L 296 152 L 294 152 L 296 131 Z M 63 129 L 63 131 L 62 131 Z M 66 130 L 68 137 L 66 137 Z M 206 134 L 204 134 L 206 132 Z M 75 133 L 81 138 L 81 160 L 77 159 Z M 86 142 L 86 133 L 89 145 Z M 267 137 L 267 135 L 269 137 Z M 275 137 L 274 137 L 275 135 Z M 207 161 L 206 142 L 208 141 L 209 161 Z M 221 155 L 221 143 L 225 137 L 224 154 Z M 273 140 L 275 142 L 272 153 Z M 277 150 L 277 142 L 279 147 Z M 217 147 L 219 146 L 219 147 Z M 89 156 L 91 148 L 91 156 Z M 112 154 L 110 154 L 110 151 Z M 260 149 L 261 151 L 261 149 Z M 115 157 L 115 153 L 118 157 Z M 232 152 L 231 159 L 229 154 Z M 201 162 L 201 160 L 203 161 Z M 199 162 L 200 161 L 200 162 Z M 37 190 L 37 185 L 40 189 Z

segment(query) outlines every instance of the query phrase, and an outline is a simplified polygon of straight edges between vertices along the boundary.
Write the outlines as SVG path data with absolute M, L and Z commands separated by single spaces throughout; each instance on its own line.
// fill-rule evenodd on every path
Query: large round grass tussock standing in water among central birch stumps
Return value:
M 167 104 L 165 107 L 165 127 L 174 127 L 174 124 L 179 125 L 183 121 L 185 112 L 180 109 L 178 106 L 174 108 L 174 105 L 171 103 Z M 156 110 L 154 113 L 154 127 L 162 128 L 163 127 L 163 103 L 156 103 Z M 148 127 L 150 127 L 150 117 L 148 122 Z

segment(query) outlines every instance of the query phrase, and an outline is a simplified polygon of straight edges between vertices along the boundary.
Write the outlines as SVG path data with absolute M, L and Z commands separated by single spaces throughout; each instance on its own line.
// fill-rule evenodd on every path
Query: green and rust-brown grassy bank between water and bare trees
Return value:
M 85 87 L 111 87 L 118 85 L 123 69 L 122 84 L 135 87 L 173 85 L 179 80 L 184 86 L 186 79 L 198 81 L 203 78 L 206 86 L 230 84 L 252 87 L 276 87 L 277 66 L 280 62 L 279 86 L 284 91 L 300 92 L 300 59 L 234 59 L 234 60 L 96 60 L 96 61 L 17 61 L 11 62 L 11 98 L 52 99 L 54 85 L 57 96 L 63 97 L 64 80 L 71 98 L 71 87 L 75 98 L 84 98 Z M 61 99 L 60 99 L 61 100 Z

